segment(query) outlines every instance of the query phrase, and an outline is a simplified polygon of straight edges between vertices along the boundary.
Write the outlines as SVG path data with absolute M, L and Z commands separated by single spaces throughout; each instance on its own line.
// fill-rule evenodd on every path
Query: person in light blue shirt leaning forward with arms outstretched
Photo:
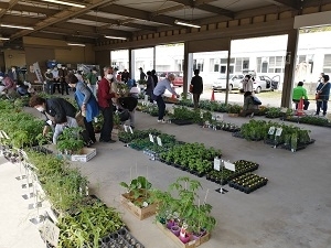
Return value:
M 162 122 L 162 123 L 166 122 L 166 120 L 163 119 L 166 114 L 166 104 L 162 97 L 166 89 L 168 89 L 171 94 L 175 95 L 177 98 L 180 97 L 180 95 L 177 94 L 170 85 L 173 80 L 174 80 L 174 75 L 170 73 L 163 80 L 160 80 L 158 85 L 154 87 L 153 99 L 157 101 L 159 108 L 158 122 Z

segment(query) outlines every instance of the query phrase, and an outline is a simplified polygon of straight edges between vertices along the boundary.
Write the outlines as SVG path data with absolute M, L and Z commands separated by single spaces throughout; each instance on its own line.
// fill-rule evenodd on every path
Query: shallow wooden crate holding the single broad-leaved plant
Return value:
M 120 195 L 120 202 L 121 204 L 129 211 L 131 212 L 137 218 L 139 218 L 140 220 L 148 218 L 152 215 L 156 214 L 157 212 L 157 203 L 150 204 L 147 207 L 140 208 L 138 206 L 136 206 L 134 203 L 131 203 L 128 200 L 128 193 L 126 194 L 121 194 Z

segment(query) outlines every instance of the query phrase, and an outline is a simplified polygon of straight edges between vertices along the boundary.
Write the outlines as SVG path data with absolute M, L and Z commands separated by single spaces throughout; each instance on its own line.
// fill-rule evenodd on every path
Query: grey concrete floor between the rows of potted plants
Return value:
M 249 120 L 229 118 L 226 115 L 224 118 L 237 125 Z M 142 152 L 126 148 L 121 142 L 96 143 L 97 155 L 87 163 L 76 165 L 88 176 L 90 193 L 120 211 L 132 235 L 147 248 L 175 246 L 158 229 L 153 217 L 138 220 L 120 205 L 119 195 L 125 190 L 118 184 L 121 181 L 128 182 L 130 174 L 132 177 L 147 175 L 154 187 L 163 190 L 178 176 L 200 180 L 204 188 L 201 195 L 204 196 L 205 191 L 210 190 L 207 202 L 213 206 L 213 215 L 217 219 L 217 227 L 212 233 L 211 240 L 203 244 L 204 248 L 330 248 L 330 129 L 303 125 L 300 127 L 310 129 L 311 138 L 317 142 L 292 153 L 263 142 L 233 138 L 225 131 L 202 129 L 196 125 L 180 127 L 157 123 L 156 118 L 137 112 L 137 129 L 156 128 L 174 134 L 178 140 L 203 142 L 207 147 L 221 149 L 223 159 L 232 162 L 244 159 L 259 163 L 255 173 L 268 177 L 269 182 L 249 195 L 227 185 L 225 188 L 228 193 L 221 195 L 214 191 L 218 187 L 215 183 L 151 161 Z M 1 220 L 2 229 L 3 225 L 8 224 Z M 15 228 L 10 228 L 8 233 L 15 236 Z M 0 248 L 19 247 L 1 245 Z

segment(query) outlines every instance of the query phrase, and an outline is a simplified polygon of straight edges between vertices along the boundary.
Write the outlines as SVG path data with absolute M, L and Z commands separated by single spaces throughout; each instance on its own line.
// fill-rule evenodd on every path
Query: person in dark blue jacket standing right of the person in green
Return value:
M 317 99 L 317 110 L 316 110 L 316 116 L 320 115 L 320 109 L 322 108 L 323 110 L 323 116 L 327 115 L 328 110 L 328 100 L 330 98 L 330 77 L 329 75 L 322 75 L 321 83 L 317 87 L 316 91 L 318 94 L 318 99 Z

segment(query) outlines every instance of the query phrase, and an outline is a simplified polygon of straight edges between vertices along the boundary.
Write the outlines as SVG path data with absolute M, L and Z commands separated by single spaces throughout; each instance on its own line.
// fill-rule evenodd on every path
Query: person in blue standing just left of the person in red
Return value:
M 79 82 L 74 74 L 68 75 L 68 85 L 72 88 L 76 88 L 75 100 L 78 104 L 82 116 L 84 117 L 85 129 L 89 136 L 89 139 L 93 142 L 96 142 L 93 120 L 99 115 L 98 103 L 90 88 L 87 87 L 85 83 Z

